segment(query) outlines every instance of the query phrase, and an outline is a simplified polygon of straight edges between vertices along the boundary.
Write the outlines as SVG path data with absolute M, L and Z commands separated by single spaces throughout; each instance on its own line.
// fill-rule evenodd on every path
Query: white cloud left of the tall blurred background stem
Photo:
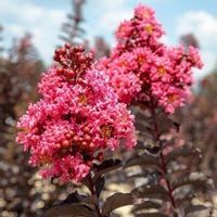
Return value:
M 35 46 L 46 61 L 50 61 L 58 38 L 61 24 L 65 21 L 65 11 L 49 9 L 29 3 L 29 1 L 0 1 L 0 17 L 5 20 L 4 31 L 14 37 L 21 37 L 25 31 L 34 35 Z

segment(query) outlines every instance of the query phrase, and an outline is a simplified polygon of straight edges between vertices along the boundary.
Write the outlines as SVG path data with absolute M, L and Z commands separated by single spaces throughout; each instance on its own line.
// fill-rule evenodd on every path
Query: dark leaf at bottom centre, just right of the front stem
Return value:
M 136 199 L 132 193 L 115 193 L 105 201 L 102 214 L 103 216 L 106 216 L 116 208 L 132 205 L 135 200 Z

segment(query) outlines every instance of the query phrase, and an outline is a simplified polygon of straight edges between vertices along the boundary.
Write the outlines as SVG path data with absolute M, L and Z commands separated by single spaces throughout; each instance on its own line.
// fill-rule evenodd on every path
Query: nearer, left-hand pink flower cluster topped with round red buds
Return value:
M 46 178 L 80 181 L 103 151 L 115 150 L 120 140 L 136 144 L 133 116 L 105 81 L 103 72 L 91 66 L 82 47 L 55 51 L 59 64 L 42 75 L 42 99 L 28 106 L 17 126 L 17 142 L 30 151 L 30 164 Z

